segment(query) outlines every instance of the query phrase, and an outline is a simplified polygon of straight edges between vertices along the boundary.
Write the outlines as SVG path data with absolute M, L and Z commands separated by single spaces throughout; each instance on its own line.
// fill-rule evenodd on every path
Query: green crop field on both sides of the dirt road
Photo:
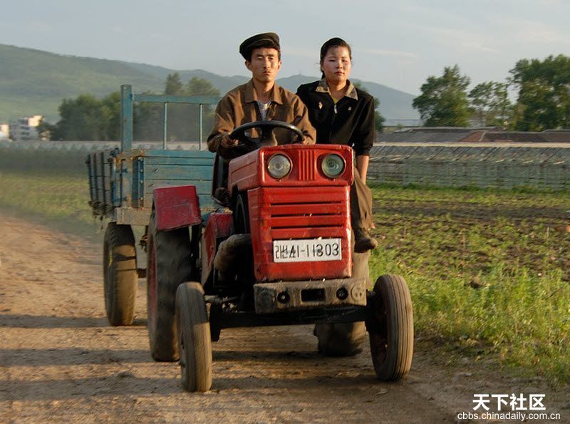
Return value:
M 570 381 L 568 193 L 373 187 L 373 278 L 402 274 L 416 335 L 524 376 Z M 81 234 L 77 172 L 0 171 L 0 207 Z

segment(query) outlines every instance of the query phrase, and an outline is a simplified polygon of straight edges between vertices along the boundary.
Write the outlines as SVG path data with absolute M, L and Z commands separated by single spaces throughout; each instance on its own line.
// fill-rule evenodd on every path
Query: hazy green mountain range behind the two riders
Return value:
M 248 81 L 246 76 L 219 76 L 195 69 L 180 71 L 107 59 L 65 56 L 31 48 L 0 44 L 0 123 L 23 116 L 41 114 L 55 123 L 63 98 L 76 98 L 90 93 L 104 97 L 129 83 L 135 93 L 162 93 L 169 73 L 180 73 L 180 81 L 193 76 L 205 78 L 220 93 Z M 316 76 L 294 75 L 279 78 L 277 83 L 291 91 Z M 358 81 L 358 80 L 353 80 Z M 380 113 L 388 119 L 418 119 L 412 108 L 414 95 L 382 84 L 360 81 L 363 88 L 380 99 Z

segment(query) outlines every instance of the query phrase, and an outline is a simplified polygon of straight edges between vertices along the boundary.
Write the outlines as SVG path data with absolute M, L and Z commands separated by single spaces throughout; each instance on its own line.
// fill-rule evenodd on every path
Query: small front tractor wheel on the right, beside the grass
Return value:
M 366 322 L 378 380 L 397 381 L 412 366 L 414 324 L 412 299 L 403 277 L 382 275 L 374 284 Z

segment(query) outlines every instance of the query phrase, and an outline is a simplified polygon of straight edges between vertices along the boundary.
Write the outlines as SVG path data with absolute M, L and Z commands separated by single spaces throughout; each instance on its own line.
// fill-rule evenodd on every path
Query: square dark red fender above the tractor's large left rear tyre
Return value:
M 194 185 L 155 188 L 152 210 L 158 230 L 190 227 L 202 222 L 200 205 Z

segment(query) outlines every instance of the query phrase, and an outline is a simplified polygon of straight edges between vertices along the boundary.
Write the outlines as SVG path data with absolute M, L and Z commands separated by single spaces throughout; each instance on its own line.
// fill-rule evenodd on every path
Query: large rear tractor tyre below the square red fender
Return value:
M 147 327 L 150 354 L 155 361 L 178 359 L 176 289 L 191 276 L 188 229 L 158 231 L 152 213 L 147 241 Z

